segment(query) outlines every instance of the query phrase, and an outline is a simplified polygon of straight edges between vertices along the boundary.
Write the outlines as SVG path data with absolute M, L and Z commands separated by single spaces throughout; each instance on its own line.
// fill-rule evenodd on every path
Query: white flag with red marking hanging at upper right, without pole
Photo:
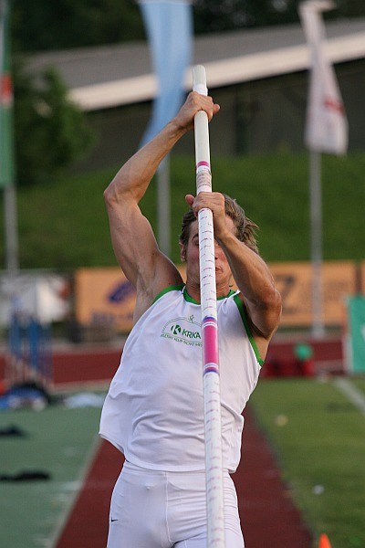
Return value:
M 311 71 L 305 142 L 309 150 L 345 154 L 348 121 L 335 72 L 325 52 L 325 26 L 321 12 L 334 7 L 328 0 L 308 0 L 299 15 L 311 49 Z

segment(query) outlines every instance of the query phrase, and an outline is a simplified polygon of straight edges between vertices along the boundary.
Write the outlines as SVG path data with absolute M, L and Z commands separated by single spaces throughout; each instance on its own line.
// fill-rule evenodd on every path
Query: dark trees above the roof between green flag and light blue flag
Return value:
M 133 0 L 13 0 L 15 51 L 125 42 L 144 37 Z

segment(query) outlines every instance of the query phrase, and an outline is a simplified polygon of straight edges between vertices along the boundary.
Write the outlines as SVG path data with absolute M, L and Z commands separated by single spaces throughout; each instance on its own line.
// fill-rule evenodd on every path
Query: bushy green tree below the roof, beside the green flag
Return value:
M 30 75 L 16 64 L 14 83 L 17 182 L 52 180 L 89 150 L 93 134 L 55 69 Z

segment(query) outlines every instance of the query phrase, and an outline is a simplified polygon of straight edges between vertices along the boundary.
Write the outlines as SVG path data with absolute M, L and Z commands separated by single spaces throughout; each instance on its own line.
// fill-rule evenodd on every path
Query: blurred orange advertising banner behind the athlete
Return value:
M 283 299 L 281 327 L 308 327 L 312 322 L 312 267 L 309 262 L 269 265 Z M 184 265 L 179 266 L 184 276 Z M 328 261 L 322 269 L 323 321 L 341 325 L 345 300 L 356 293 L 357 267 L 351 261 Z M 362 266 L 365 279 L 365 264 Z M 119 267 L 78 269 L 76 315 L 83 325 L 110 325 L 130 332 L 136 294 Z

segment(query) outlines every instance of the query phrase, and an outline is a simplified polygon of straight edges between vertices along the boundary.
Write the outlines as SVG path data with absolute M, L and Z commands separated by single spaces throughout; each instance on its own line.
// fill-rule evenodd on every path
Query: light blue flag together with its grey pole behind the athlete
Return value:
M 137 0 L 141 8 L 151 58 L 157 77 L 149 126 L 140 146 L 149 142 L 172 120 L 183 104 L 183 79 L 190 65 L 193 46 L 193 5 L 191 0 Z M 157 174 L 157 239 L 159 248 L 171 255 L 170 159 L 162 160 Z

